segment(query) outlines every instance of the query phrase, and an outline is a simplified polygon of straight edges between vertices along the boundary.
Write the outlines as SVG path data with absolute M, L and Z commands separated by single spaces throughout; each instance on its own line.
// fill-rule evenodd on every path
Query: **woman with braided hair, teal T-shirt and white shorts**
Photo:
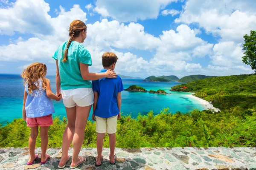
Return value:
M 81 45 L 86 39 L 87 26 L 80 20 L 70 24 L 70 39 L 63 42 L 52 58 L 56 60 L 56 95 L 62 95 L 67 113 L 67 127 L 62 138 L 62 156 L 58 168 L 65 168 L 70 156 L 68 150 L 73 142 L 71 169 L 85 162 L 79 156 L 83 141 L 84 129 L 93 104 L 93 90 L 90 80 L 116 78 L 117 74 L 108 70 L 105 73 L 90 73 L 92 65 L 89 51 Z

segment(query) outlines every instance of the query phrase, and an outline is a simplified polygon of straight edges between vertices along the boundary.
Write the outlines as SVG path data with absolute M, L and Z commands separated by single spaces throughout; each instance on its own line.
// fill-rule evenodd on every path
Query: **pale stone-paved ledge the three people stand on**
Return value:
M 36 148 L 40 155 L 41 148 Z M 175 147 L 175 148 L 116 148 L 117 161 L 109 164 L 109 148 L 104 148 L 102 166 L 95 167 L 96 148 L 82 148 L 80 155 L 86 162 L 81 170 L 256 170 L 256 147 Z M 0 148 L 1 170 L 55 170 L 61 157 L 61 148 L 49 148 L 51 159 L 40 165 L 40 158 L 27 166 L 28 148 Z M 72 155 L 72 149 L 69 150 Z M 64 170 L 70 170 L 70 162 Z

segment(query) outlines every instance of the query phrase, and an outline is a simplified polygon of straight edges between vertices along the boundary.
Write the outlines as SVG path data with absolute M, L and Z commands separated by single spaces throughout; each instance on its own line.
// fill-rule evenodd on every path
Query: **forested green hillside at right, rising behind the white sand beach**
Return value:
M 188 88 L 183 89 L 183 86 Z M 219 109 L 256 106 L 256 74 L 213 77 L 172 87 L 173 91 L 195 92 Z

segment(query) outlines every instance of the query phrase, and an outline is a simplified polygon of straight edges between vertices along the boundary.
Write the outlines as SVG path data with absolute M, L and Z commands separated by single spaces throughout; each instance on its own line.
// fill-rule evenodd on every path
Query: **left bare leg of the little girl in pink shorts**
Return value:
M 31 163 L 35 159 L 35 142 L 38 136 L 38 126 L 37 127 L 30 127 L 30 136 L 29 136 L 29 160 L 28 162 Z

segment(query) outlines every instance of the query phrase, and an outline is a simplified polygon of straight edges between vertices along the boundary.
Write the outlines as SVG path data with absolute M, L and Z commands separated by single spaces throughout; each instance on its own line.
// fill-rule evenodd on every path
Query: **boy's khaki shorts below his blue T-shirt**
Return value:
M 95 116 L 96 119 L 96 132 L 97 133 L 108 133 L 113 134 L 116 133 L 116 122 L 117 116 L 113 116 L 110 118 L 102 118 Z

